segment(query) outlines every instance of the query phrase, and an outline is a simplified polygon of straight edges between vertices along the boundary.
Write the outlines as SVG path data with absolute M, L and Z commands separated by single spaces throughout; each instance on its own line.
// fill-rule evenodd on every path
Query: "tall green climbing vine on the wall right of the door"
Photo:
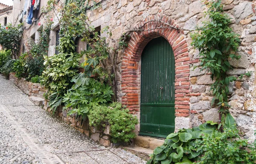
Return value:
M 221 0 L 206 1 L 208 11 L 205 16 L 209 16 L 209 21 L 204 22 L 204 26 L 197 29 L 192 35 L 192 45 L 195 49 L 199 49 L 202 57 L 200 66 L 202 70 L 207 70 L 211 73 L 212 79 L 215 82 L 211 86 L 214 98 L 218 101 L 220 107 L 219 112 L 228 113 L 227 106 L 229 94 L 228 85 L 235 81 L 236 78 L 228 77 L 226 72 L 232 69 L 228 58 L 239 59 L 240 56 L 235 55 L 239 47 L 239 35 L 233 32 L 229 27 L 230 18 L 227 14 L 223 14 L 223 5 Z

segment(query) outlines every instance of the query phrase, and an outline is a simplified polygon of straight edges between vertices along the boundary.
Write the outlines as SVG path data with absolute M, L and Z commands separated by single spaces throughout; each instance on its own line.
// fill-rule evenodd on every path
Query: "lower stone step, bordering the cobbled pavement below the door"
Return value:
M 142 158 L 145 161 L 148 161 L 150 159 L 149 155 L 153 154 L 153 150 L 146 149 L 144 147 L 122 147 L 124 150 L 127 150 L 131 152 L 134 155 L 137 155 L 138 157 Z

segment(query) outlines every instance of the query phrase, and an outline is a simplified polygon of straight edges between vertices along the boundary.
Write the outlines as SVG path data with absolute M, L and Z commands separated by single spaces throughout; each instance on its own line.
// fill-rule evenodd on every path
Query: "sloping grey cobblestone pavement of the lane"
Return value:
M 105 148 L 44 109 L 0 75 L 0 164 L 145 164 Z

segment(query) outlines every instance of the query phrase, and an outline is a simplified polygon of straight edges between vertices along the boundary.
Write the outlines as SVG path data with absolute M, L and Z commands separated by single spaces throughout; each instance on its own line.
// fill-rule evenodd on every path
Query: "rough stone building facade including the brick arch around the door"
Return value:
M 59 3 L 62 1 L 60 0 Z M 98 1 L 97 1 L 98 2 Z M 17 2 L 15 2 L 17 3 Z M 14 20 L 20 17 L 24 0 L 14 3 Z M 229 75 L 238 77 L 245 72 L 251 72 L 250 77 L 244 77 L 230 83 L 230 112 L 237 125 L 244 132 L 244 138 L 255 138 L 256 129 L 256 16 L 255 0 L 222 0 L 224 11 L 232 18 L 230 25 L 239 34 L 239 60 L 230 60 L 233 70 Z M 41 1 L 41 7 L 47 2 Z M 87 16 L 91 25 L 103 29 L 110 27 L 112 39 L 118 38 L 132 29 L 143 29 L 133 32 L 128 47 L 119 53 L 118 68 L 118 100 L 126 105 L 131 113 L 141 115 L 141 55 L 148 42 L 156 37 L 165 38 L 172 46 L 175 59 L 175 130 L 198 126 L 205 121 L 218 121 L 218 109 L 211 106 L 212 93 L 210 85 L 213 81 L 205 71 L 198 66 L 200 56 L 198 50 L 191 46 L 190 35 L 196 26 L 201 26 L 207 18 L 204 17 L 206 7 L 201 0 L 103 0 L 101 7 L 88 10 Z M 36 41 L 39 37 L 37 29 L 44 24 L 44 17 L 39 12 L 34 23 L 25 23 L 23 33 L 23 49 L 27 49 L 28 41 Z M 23 16 L 23 21 L 26 15 Z M 58 19 L 55 20 L 51 32 L 48 55 L 55 53 L 56 31 Z M 15 22 L 17 24 L 18 22 Z M 103 34 L 104 35 L 104 34 Z M 110 46 L 114 45 L 111 41 Z M 80 43 L 81 49 L 86 43 Z M 85 48 L 84 48 L 85 49 Z M 140 132 L 140 124 L 136 129 Z

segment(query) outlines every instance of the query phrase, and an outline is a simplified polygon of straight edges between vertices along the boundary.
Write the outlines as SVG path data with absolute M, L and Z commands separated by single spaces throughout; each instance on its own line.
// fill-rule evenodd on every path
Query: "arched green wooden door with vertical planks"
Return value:
M 163 37 L 151 40 L 141 57 L 140 135 L 166 138 L 175 129 L 175 60 Z

